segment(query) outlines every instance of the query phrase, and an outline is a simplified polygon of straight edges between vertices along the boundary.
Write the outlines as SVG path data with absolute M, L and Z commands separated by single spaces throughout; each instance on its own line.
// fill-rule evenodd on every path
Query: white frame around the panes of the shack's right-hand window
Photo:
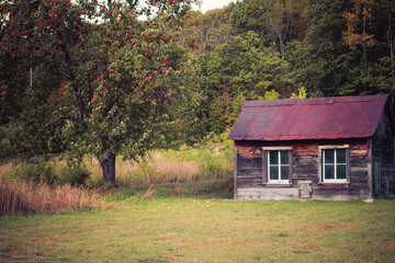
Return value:
M 350 182 L 350 151 L 349 145 L 339 145 L 339 146 L 318 146 L 319 158 L 318 158 L 318 176 L 320 183 L 329 183 L 329 184 L 345 184 Z M 337 163 L 337 150 L 346 149 L 346 163 Z M 334 165 L 335 165 L 335 179 L 326 180 L 325 179 L 325 150 L 335 150 L 334 153 Z M 346 164 L 346 179 L 337 179 L 337 164 Z

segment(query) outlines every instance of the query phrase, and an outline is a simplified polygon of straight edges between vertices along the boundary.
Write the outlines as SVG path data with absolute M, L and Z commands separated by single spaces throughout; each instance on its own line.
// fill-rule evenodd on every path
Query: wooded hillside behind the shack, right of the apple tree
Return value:
M 244 0 L 191 15 L 210 132 L 245 100 L 394 94 L 394 1 Z

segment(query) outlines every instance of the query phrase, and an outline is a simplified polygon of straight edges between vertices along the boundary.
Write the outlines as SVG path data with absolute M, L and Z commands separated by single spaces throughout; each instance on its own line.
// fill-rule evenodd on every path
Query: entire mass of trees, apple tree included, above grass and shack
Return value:
M 221 135 L 246 100 L 395 92 L 392 0 L 193 2 L 1 1 L 0 157 L 89 152 L 111 184 L 116 156 Z

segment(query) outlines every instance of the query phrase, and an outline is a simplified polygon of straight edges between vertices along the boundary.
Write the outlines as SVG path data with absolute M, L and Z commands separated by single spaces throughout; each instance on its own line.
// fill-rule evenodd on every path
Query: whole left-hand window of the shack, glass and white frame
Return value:
M 291 150 L 291 147 L 263 147 L 263 183 L 290 183 Z

